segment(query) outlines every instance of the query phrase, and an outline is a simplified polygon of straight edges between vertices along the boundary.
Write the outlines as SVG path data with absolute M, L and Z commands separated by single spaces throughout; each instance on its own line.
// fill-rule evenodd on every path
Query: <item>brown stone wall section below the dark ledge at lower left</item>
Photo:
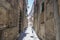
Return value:
M 18 35 L 18 27 L 12 27 L 2 30 L 1 40 L 16 40 Z

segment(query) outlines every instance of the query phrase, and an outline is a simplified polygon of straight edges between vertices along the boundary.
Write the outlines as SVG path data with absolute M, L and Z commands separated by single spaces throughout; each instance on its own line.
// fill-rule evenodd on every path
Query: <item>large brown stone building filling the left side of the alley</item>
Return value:
M 0 0 L 0 40 L 15 40 L 18 37 L 24 24 L 24 1 Z

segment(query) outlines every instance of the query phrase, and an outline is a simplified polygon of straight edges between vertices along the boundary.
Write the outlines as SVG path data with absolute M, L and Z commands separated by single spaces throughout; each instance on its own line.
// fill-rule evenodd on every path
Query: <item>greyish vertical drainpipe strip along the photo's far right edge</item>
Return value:
M 56 25 L 56 40 L 60 40 L 60 17 L 58 9 L 58 1 L 54 0 L 54 19 Z

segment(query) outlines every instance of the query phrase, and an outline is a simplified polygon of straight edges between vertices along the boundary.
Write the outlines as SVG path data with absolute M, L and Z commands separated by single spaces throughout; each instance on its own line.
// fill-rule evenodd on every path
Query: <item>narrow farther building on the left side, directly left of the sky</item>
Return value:
M 28 26 L 28 19 L 27 19 L 27 11 L 28 11 L 28 10 L 27 10 L 27 5 L 28 5 L 28 0 L 24 0 L 24 1 L 25 1 L 25 2 L 24 2 L 24 17 L 23 17 L 24 27 L 23 27 L 23 30 L 24 30 L 25 27 Z

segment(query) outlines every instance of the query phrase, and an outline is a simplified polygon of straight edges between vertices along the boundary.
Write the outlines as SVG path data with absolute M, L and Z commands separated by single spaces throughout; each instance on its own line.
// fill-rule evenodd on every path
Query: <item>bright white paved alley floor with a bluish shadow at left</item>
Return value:
M 37 37 L 34 29 L 30 26 L 26 27 L 25 30 L 21 32 L 18 40 L 39 40 L 39 38 Z

